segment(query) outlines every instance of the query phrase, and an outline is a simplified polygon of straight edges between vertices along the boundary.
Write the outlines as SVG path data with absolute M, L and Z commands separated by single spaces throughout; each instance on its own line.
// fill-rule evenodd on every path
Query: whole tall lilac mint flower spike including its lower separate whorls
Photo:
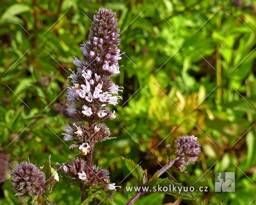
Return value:
M 77 72 L 71 70 L 69 78 L 73 86 L 68 87 L 66 96 L 70 101 L 67 111 L 75 121 L 73 126 L 64 129 L 64 140 L 75 141 L 70 149 L 77 149 L 83 159 L 75 159 L 59 166 L 62 173 L 70 178 L 79 180 L 79 186 L 85 193 L 88 186 L 100 186 L 115 190 L 114 183 L 110 183 L 109 172 L 93 165 L 94 144 L 99 141 L 112 139 L 110 130 L 103 120 L 114 119 L 115 111 L 108 105 L 116 105 L 121 96 L 118 95 L 123 87 L 112 82 L 114 74 L 120 73 L 118 61 L 121 59 L 119 29 L 117 19 L 112 10 L 100 8 L 94 16 L 88 41 L 81 45 L 82 60 L 75 57 L 73 63 L 78 66 Z M 87 124 L 83 122 L 88 122 Z M 110 196 L 113 200 L 113 196 Z

